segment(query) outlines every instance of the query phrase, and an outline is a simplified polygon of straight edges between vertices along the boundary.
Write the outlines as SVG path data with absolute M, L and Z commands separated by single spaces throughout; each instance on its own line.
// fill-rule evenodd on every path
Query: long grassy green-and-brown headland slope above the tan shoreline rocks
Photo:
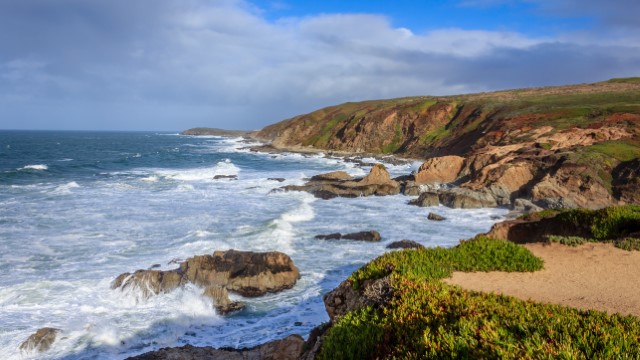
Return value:
M 637 156 L 640 78 L 346 103 L 268 126 L 258 136 L 285 147 L 426 157 L 466 155 L 482 145 L 526 141 L 531 129 L 545 125 L 564 131 L 611 124 L 630 128 L 635 136 L 622 145 L 613 144 L 617 149 L 603 145 L 590 152 L 615 152 L 619 158 Z M 520 136 L 510 136 L 513 132 Z

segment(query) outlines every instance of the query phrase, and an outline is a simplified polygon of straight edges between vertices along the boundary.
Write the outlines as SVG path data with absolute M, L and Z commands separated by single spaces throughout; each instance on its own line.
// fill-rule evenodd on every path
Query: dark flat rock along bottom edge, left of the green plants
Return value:
M 300 335 L 289 335 L 282 340 L 271 341 L 246 349 L 214 349 L 185 345 L 176 348 L 163 348 L 142 355 L 130 357 L 131 360 L 297 360 L 303 350 L 304 339 Z

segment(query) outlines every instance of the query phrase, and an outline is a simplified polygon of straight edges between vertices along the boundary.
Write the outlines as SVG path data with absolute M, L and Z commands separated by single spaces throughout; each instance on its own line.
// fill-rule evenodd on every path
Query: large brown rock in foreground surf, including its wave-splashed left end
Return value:
M 148 297 L 191 282 L 203 287 L 223 287 L 242 296 L 255 297 L 289 289 L 299 277 L 298 268 L 291 258 L 281 252 L 229 250 L 194 256 L 180 263 L 175 270 L 124 273 L 114 280 L 112 288 L 136 288 Z

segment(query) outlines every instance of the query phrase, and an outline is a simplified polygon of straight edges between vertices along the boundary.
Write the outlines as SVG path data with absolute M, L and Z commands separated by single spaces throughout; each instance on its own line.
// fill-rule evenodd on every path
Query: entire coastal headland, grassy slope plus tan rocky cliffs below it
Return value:
M 518 197 L 544 207 L 640 201 L 640 78 L 347 103 L 268 126 L 256 137 L 276 147 L 434 163 L 455 155 L 464 159 L 461 168 L 441 166 L 455 174 L 438 176 L 488 191 L 499 204 Z

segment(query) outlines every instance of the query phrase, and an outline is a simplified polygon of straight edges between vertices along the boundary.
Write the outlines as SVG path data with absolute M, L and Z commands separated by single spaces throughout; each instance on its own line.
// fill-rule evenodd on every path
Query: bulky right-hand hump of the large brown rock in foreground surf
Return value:
M 196 285 L 224 286 L 247 297 L 290 289 L 300 278 L 291 258 L 277 251 L 216 251 L 187 259 L 180 272 Z

